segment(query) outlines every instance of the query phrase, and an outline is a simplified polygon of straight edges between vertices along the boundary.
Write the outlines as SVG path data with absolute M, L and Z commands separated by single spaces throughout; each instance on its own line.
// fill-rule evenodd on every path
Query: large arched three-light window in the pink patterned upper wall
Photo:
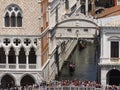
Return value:
M 5 27 L 22 27 L 22 10 L 19 6 L 12 4 L 5 10 Z

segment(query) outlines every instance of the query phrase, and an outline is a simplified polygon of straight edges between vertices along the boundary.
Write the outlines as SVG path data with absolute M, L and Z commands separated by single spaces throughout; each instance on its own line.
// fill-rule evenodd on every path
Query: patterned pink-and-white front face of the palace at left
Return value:
M 0 84 L 3 88 L 38 84 L 43 58 L 40 4 L 34 0 L 2 0 L 0 5 Z

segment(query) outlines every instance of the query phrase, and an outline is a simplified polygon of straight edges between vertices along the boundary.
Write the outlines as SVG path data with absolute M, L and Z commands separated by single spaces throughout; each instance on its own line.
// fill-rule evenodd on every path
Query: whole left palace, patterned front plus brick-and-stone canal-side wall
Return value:
M 73 2 L 69 3 L 70 8 L 75 5 Z M 52 53 L 56 41 L 50 39 L 49 32 L 67 12 L 65 3 L 59 0 L 1 1 L 0 83 L 3 88 L 39 84 L 43 79 L 55 78 L 57 70 L 52 65 L 55 62 Z

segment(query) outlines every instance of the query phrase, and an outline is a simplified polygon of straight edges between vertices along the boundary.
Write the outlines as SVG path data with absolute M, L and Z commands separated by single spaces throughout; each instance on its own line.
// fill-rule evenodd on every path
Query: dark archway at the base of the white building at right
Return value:
M 120 71 L 114 69 L 107 74 L 107 83 L 109 85 L 119 85 L 120 84 Z

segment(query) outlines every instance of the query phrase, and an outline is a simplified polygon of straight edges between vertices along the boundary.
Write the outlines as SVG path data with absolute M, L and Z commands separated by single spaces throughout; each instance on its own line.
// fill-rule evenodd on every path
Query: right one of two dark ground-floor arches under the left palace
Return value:
M 30 75 L 26 75 L 22 78 L 20 84 L 21 86 L 33 85 L 35 84 L 35 80 Z

